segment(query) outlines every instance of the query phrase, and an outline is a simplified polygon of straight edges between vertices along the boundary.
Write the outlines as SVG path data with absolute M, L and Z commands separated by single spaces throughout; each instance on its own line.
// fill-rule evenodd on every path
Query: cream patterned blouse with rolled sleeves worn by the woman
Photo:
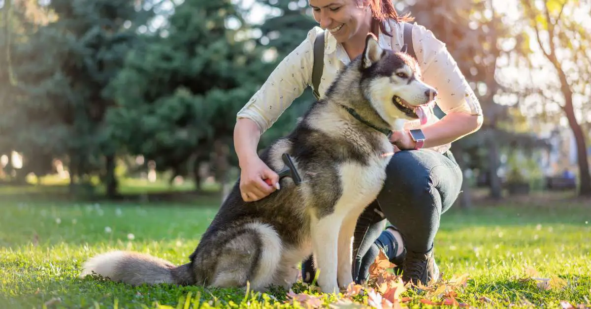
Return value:
M 386 25 L 393 36 L 389 37 L 380 31 L 379 45 L 382 48 L 400 50 L 403 44 L 402 27 L 405 24 L 399 24 L 392 19 Z M 252 119 L 259 126 L 261 134 L 277 121 L 293 100 L 312 84 L 314 40 L 321 31 L 323 31 L 322 28 L 314 27 L 308 32 L 306 39 L 278 64 L 267 81 L 239 110 L 237 118 Z M 348 54 L 329 31 L 325 32 L 324 40 L 324 68 L 319 85 L 320 96 L 324 95 L 339 70 L 350 63 Z M 413 25 L 413 45 L 424 82 L 437 89 L 436 103 L 439 108 L 446 114 L 463 112 L 482 115 L 478 99 L 457 67 L 456 61 L 447 51 L 446 45 L 437 40 L 433 32 L 418 24 Z M 423 126 L 437 121 L 439 119 L 431 113 Z M 405 121 L 403 125 L 406 129 L 421 127 L 418 120 Z M 450 144 L 446 144 L 430 149 L 444 152 L 449 147 Z

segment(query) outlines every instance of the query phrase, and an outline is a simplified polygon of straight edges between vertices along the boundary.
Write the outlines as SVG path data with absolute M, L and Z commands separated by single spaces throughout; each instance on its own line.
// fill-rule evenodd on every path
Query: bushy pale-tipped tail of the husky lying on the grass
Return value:
M 80 277 L 93 272 L 116 282 L 131 285 L 172 283 L 193 284 L 189 264 L 174 266 L 168 261 L 138 252 L 112 251 L 85 262 Z

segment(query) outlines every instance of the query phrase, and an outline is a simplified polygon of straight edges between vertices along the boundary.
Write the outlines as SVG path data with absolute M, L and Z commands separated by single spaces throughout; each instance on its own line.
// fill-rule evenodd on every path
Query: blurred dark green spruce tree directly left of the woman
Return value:
M 213 152 L 225 180 L 236 113 L 255 92 L 261 52 L 229 0 L 185 1 L 164 27 L 142 36 L 108 93 L 109 136 L 157 170 L 193 174 Z M 231 149 L 231 148 L 230 148 Z M 196 179 L 199 186 L 199 179 Z

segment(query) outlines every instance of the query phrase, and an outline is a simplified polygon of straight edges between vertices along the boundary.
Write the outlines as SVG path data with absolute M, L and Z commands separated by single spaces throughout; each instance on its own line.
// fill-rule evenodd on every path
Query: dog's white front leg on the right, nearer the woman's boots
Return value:
M 355 225 L 358 217 L 357 213 L 350 213 L 343 220 L 343 225 L 340 227 L 337 280 L 339 287 L 343 289 L 347 288 L 353 282 L 353 233 L 355 233 Z

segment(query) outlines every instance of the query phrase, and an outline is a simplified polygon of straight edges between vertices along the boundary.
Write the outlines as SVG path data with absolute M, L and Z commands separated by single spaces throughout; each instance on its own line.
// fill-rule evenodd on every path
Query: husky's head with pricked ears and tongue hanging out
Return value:
M 401 118 L 426 121 L 427 105 L 437 91 L 421 80 L 413 57 L 385 50 L 368 35 L 360 70 L 364 95 L 382 119 L 391 125 Z

